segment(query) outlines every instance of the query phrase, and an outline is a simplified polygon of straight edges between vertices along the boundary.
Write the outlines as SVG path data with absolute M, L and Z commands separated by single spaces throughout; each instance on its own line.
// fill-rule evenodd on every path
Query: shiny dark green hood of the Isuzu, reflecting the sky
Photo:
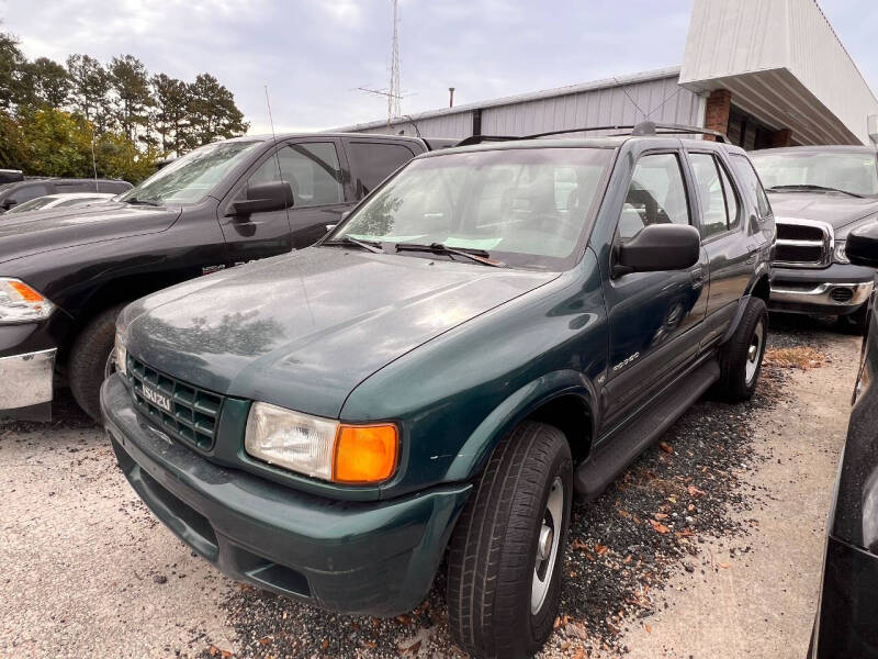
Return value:
M 558 276 L 311 247 L 160 291 L 121 323 L 128 353 L 169 376 L 337 417 L 390 361 Z

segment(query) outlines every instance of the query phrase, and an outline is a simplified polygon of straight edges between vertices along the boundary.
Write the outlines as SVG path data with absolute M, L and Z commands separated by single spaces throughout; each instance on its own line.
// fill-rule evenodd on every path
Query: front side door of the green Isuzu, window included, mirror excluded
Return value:
M 646 152 L 633 167 L 614 244 L 649 224 L 668 222 L 697 226 L 683 154 Z M 707 310 L 708 264 L 702 249 L 700 261 L 686 270 L 614 276 L 610 263 L 604 277 L 609 323 L 604 409 L 612 423 L 695 360 Z

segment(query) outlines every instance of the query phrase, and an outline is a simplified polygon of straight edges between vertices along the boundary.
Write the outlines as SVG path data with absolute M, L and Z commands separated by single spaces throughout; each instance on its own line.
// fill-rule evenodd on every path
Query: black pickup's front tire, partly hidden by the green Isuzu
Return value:
M 94 421 L 101 421 L 100 391 L 106 360 L 116 337 L 116 317 L 126 303 L 111 306 L 94 316 L 74 342 L 67 366 L 67 381 L 74 400 Z

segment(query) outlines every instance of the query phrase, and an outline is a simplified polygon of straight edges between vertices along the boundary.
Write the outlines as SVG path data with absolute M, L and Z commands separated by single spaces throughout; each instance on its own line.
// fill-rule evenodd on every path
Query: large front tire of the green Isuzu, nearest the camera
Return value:
M 524 423 L 494 450 L 461 514 L 448 555 L 451 634 L 474 657 L 530 657 L 551 634 L 572 494 L 570 446 L 558 428 Z M 560 509 L 560 524 L 549 505 Z M 549 558 L 538 562 L 538 543 L 547 535 L 543 526 L 553 529 L 548 534 L 553 539 Z M 533 588 L 538 567 L 543 588 Z

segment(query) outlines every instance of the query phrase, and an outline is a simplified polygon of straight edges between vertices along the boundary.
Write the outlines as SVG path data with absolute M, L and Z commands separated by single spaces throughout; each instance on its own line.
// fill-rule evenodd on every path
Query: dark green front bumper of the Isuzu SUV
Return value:
M 234 579 L 330 611 L 391 616 L 416 607 L 472 489 L 329 500 L 169 440 L 137 415 L 116 376 L 101 389 L 101 409 L 128 482 L 180 539 Z

